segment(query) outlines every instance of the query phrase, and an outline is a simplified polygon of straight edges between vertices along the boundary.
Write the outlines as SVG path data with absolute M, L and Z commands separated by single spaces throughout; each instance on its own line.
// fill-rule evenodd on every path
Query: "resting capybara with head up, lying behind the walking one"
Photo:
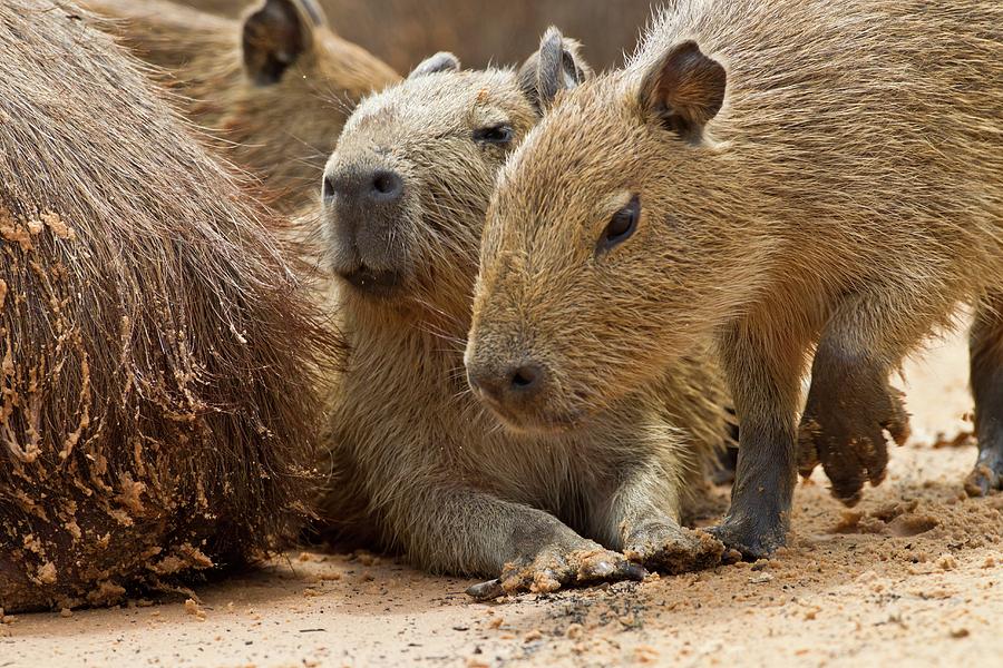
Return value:
M 552 30 L 520 70 L 439 53 L 364 100 L 324 178 L 350 355 L 331 416 L 323 513 L 418 564 L 498 577 L 477 597 L 715 564 L 679 524 L 723 441 L 712 366 L 685 360 L 587 423 L 507 431 L 464 380 L 480 229 L 497 169 L 557 91 L 588 72 Z M 530 401 L 535 370 L 514 392 Z M 356 521 L 352 521 L 354 515 Z

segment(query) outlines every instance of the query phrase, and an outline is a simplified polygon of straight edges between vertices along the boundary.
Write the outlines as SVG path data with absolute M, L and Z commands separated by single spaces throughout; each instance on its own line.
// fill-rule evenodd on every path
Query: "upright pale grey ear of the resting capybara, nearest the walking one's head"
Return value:
M 592 76 L 582 58 L 582 46 L 567 39 L 553 26 L 544 33 L 539 50 L 519 68 L 519 88 L 544 111 L 562 90 L 575 88 Z

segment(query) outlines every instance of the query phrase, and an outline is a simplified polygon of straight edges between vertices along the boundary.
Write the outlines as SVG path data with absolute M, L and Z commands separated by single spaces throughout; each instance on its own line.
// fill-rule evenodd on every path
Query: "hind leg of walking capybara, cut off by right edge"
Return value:
M 965 480 L 970 497 L 1003 489 L 1003 296 L 980 305 L 968 338 L 978 460 Z

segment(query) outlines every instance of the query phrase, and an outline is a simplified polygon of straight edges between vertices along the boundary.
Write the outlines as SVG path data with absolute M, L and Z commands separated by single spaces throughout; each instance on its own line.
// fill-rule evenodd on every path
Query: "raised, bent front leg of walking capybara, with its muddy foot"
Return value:
M 888 371 L 824 338 L 811 369 L 801 418 L 798 468 L 806 477 L 821 462 L 832 494 L 847 505 L 860 500 L 867 481 L 877 485 L 888 465 L 888 434 L 902 444 L 909 419 Z

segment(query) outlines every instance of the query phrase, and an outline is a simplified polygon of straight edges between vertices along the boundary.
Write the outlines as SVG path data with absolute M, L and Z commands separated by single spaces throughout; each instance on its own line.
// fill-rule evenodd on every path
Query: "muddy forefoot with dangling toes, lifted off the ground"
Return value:
M 798 469 L 806 478 L 821 462 L 832 495 L 855 505 L 864 484 L 878 485 L 888 465 L 886 432 L 902 445 L 909 416 L 902 393 L 887 383 L 829 383 L 812 387 L 801 420 Z

